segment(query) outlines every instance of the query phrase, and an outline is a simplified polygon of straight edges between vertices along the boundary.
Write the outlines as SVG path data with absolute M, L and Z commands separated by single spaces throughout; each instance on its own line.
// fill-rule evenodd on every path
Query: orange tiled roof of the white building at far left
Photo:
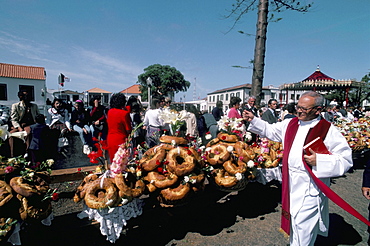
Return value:
M 0 63 L 0 77 L 19 79 L 46 79 L 45 68 Z

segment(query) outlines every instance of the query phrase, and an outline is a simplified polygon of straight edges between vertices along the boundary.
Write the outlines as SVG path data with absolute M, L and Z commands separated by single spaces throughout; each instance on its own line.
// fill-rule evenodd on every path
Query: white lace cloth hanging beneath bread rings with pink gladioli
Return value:
M 114 243 L 121 235 L 127 221 L 142 214 L 144 202 L 135 198 L 131 202 L 121 206 L 105 209 L 92 209 L 84 204 L 83 211 L 77 216 L 80 219 L 89 218 L 100 223 L 100 232 L 107 236 L 107 240 Z

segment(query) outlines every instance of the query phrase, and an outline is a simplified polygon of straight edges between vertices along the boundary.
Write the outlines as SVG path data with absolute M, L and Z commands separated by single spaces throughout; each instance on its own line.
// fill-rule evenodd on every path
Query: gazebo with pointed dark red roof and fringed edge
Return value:
M 303 91 L 303 90 L 313 90 L 313 91 L 330 91 L 330 90 L 345 90 L 346 93 L 346 105 L 348 105 L 348 93 L 350 88 L 360 88 L 364 85 L 364 82 L 358 82 L 355 80 L 337 80 L 333 79 L 323 72 L 320 71 L 320 67 L 317 66 L 316 71 L 308 76 L 301 82 L 283 84 L 280 86 L 280 90 L 288 91 Z M 288 103 L 288 97 L 286 97 Z

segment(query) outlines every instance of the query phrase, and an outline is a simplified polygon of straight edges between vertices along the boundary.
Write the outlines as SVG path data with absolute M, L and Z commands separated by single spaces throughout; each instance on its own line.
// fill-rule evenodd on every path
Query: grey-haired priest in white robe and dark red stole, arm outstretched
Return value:
M 297 117 L 269 124 L 253 113 L 243 111 L 250 122 L 248 130 L 282 142 L 282 220 L 281 227 L 290 245 L 314 245 L 318 234 L 327 236 L 329 226 L 328 198 L 314 181 L 316 176 L 327 186 L 331 177 L 342 176 L 352 167 L 352 151 L 346 139 L 321 117 L 324 98 L 309 91 L 302 94 L 297 104 Z M 304 153 L 303 146 L 321 137 L 330 154 Z

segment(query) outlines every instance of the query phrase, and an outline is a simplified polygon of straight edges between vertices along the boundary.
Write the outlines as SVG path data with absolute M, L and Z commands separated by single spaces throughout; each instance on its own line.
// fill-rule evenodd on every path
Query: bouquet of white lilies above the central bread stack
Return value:
M 171 135 L 179 136 L 180 129 L 185 124 L 185 120 L 190 117 L 190 113 L 186 110 L 177 112 L 170 110 L 169 108 L 165 108 L 159 113 L 158 117 L 163 121 L 163 123 L 170 125 Z

